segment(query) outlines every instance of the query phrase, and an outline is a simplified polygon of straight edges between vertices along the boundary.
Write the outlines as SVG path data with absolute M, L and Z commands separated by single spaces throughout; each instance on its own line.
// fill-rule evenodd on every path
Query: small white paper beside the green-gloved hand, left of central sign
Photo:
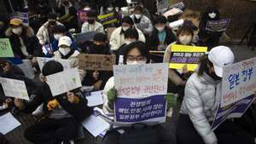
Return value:
M 102 90 L 91 92 L 90 96 L 86 96 L 89 107 L 95 107 L 103 104 Z

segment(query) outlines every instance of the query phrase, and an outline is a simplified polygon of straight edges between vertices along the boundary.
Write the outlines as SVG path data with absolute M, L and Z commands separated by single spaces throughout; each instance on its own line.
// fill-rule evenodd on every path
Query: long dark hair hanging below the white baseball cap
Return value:
M 213 66 L 212 62 L 208 59 L 208 55 L 202 55 L 199 60 L 198 76 L 201 77 L 204 72 L 208 73 L 209 66 Z

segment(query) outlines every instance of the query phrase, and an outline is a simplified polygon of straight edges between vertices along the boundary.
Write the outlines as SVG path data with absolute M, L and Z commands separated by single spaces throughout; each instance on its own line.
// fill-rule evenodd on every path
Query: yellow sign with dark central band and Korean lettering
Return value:
M 170 46 L 171 60 L 170 68 L 181 70 L 187 65 L 188 70 L 194 72 L 198 65 L 199 59 L 207 52 L 207 47 L 196 47 L 187 45 L 173 44 Z

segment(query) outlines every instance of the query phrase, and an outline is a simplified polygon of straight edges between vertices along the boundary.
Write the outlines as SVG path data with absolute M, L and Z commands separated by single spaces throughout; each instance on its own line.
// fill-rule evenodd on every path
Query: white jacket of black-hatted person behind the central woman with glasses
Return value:
M 111 50 L 118 50 L 124 43 L 125 43 L 125 34 L 121 33 L 122 26 L 116 28 L 110 37 L 109 44 L 111 46 Z M 139 29 L 137 29 L 138 35 L 139 35 L 139 41 L 146 42 L 146 38 L 143 34 L 143 32 Z

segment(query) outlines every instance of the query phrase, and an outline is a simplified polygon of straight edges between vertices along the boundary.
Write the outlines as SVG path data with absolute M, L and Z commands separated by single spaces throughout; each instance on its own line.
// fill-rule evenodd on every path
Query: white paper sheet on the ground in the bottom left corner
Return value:
M 9 112 L 0 117 L 0 132 L 6 135 L 20 126 L 20 122 Z

